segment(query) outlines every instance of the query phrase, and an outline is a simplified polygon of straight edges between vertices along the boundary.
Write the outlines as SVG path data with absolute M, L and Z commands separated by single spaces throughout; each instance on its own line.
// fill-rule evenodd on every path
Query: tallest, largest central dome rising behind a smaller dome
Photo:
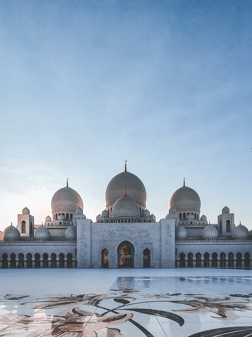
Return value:
M 142 181 L 133 173 L 121 172 L 114 176 L 108 183 L 105 193 L 106 207 L 113 207 L 116 200 L 124 195 L 125 188 L 127 195 L 134 199 L 141 207 L 146 207 L 146 190 Z

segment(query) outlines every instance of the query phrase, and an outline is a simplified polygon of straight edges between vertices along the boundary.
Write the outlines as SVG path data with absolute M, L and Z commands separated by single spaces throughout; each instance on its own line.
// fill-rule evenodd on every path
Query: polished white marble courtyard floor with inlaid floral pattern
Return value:
M 0 336 L 252 336 L 252 272 L 0 271 Z

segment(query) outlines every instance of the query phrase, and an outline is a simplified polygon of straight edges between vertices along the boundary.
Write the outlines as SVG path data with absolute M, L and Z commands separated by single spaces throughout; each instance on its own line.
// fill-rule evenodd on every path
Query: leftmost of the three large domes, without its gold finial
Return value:
M 57 190 L 51 200 L 52 213 L 57 211 L 72 211 L 80 207 L 83 209 L 83 202 L 79 194 L 70 187 L 63 187 Z

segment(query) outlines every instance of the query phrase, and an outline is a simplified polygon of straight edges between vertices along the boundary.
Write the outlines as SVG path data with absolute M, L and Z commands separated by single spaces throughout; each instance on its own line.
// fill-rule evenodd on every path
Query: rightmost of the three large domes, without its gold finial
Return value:
M 201 200 L 198 193 L 193 188 L 182 186 L 170 197 L 169 209 L 171 207 L 174 207 L 176 212 L 200 212 Z

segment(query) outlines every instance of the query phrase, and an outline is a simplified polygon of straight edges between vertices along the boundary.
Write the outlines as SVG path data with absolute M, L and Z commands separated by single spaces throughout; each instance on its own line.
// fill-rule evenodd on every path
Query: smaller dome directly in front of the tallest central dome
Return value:
M 140 220 L 138 204 L 129 196 L 116 200 L 112 208 L 112 218 L 135 218 Z

